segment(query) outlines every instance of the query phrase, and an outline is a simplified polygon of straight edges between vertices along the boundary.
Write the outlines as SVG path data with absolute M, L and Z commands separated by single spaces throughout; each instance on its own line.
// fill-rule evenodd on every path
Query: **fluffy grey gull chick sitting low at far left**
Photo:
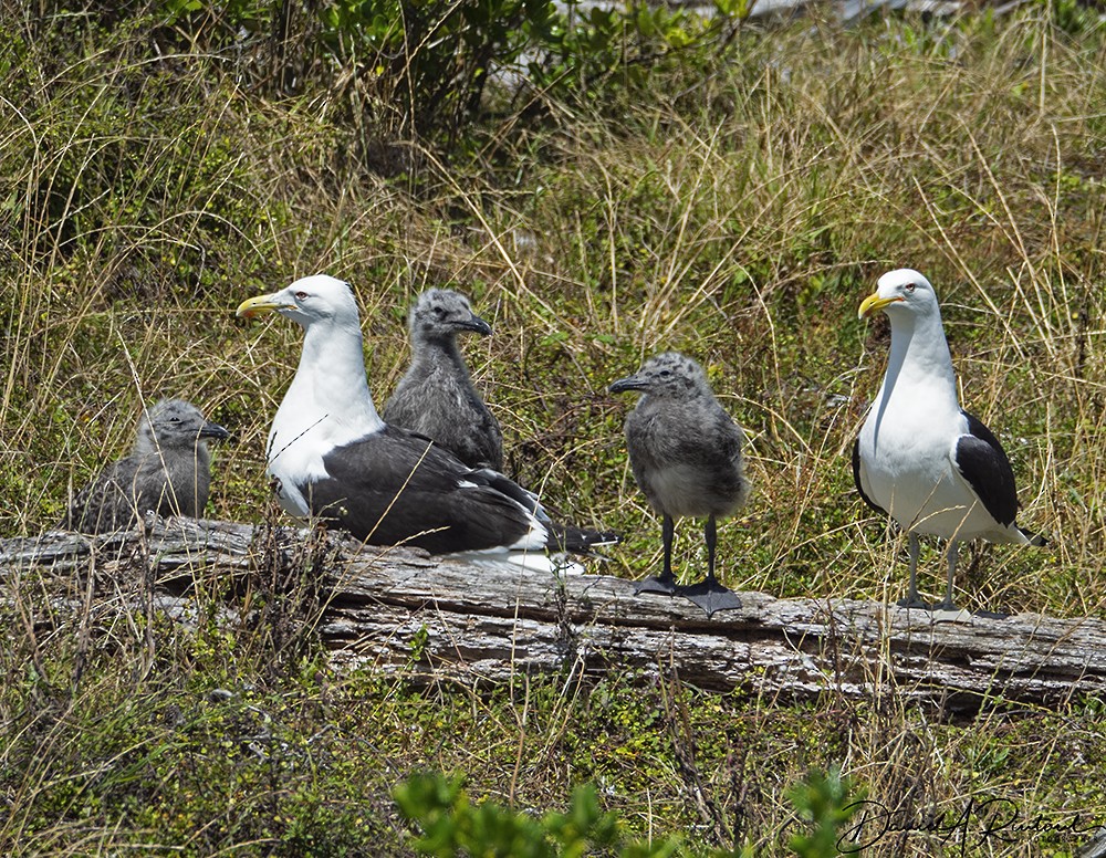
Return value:
M 228 432 L 181 399 L 163 399 L 143 411 L 131 454 L 108 465 L 81 490 L 65 526 L 104 533 L 131 526 L 153 510 L 158 515 L 196 516 L 207 504 L 211 453 L 207 439 Z

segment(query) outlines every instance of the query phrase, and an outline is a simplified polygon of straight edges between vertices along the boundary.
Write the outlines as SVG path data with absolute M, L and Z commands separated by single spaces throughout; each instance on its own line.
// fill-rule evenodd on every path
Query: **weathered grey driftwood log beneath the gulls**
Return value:
M 1106 622 L 1094 618 L 935 618 L 873 601 L 742 593 L 741 609 L 708 619 L 684 599 L 636 596 L 630 582 L 605 575 L 190 519 L 152 519 L 96 537 L 0 541 L 0 598 L 10 605 L 30 573 L 49 574 L 74 582 L 75 610 L 95 601 L 103 579 L 137 569 L 153 582 L 157 608 L 187 621 L 199 582 L 298 564 L 322 569 L 317 628 L 342 666 L 467 684 L 557 672 L 675 674 L 766 701 L 833 693 L 962 714 L 1001 703 L 1062 707 L 1106 691 Z M 119 610 L 125 600 L 109 601 L 105 609 Z M 226 616 L 233 621 L 240 611 L 231 604 Z

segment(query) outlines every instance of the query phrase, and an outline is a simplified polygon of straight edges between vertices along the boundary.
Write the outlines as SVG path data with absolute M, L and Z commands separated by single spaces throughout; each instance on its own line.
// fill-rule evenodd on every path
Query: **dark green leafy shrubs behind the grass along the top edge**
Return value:
M 709 17 L 644 2 L 581 13 L 575 1 L 562 9 L 551 0 L 330 0 L 305 9 L 150 0 L 122 10 L 92 3 L 69 25 L 140 32 L 161 51 L 216 53 L 239 80 L 285 94 L 345 91 L 346 109 L 365 114 L 355 124 L 455 145 L 486 113 L 497 73 L 508 96 L 497 106 L 523 92 L 595 101 L 609 85 L 640 91 L 658 72 L 719 60 L 749 9 L 745 0 L 718 0 Z

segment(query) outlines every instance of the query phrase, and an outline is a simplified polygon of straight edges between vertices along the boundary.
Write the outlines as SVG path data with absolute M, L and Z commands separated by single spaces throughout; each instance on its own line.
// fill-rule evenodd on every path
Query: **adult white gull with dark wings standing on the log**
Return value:
M 929 607 L 918 597 L 918 534 L 926 533 L 949 541 L 945 600 L 933 607 L 957 610 L 952 579 L 961 542 L 1045 543 L 1014 524 L 1010 460 L 994 433 L 960 407 L 932 285 L 910 269 L 884 274 L 859 316 L 880 310 L 891 323 L 891 348 L 853 444 L 853 477 L 864 501 L 908 534 L 910 586 L 899 606 Z

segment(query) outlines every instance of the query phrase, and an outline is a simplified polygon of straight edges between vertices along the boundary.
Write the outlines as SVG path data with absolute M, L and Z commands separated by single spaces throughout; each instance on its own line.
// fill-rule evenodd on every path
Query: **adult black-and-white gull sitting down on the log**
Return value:
M 552 523 L 538 498 L 503 474 L 470 469 L 429 438 L 385 423 L 365 378 L 348 283 L 316 274 L 238 307 L 248 318 L 262 312 L 304 329 L 300 366 L 268 443 L 267 470 L 293 516 L 322 519 L 369 545 L 431 554 L 586 553 L 617 541 Z

